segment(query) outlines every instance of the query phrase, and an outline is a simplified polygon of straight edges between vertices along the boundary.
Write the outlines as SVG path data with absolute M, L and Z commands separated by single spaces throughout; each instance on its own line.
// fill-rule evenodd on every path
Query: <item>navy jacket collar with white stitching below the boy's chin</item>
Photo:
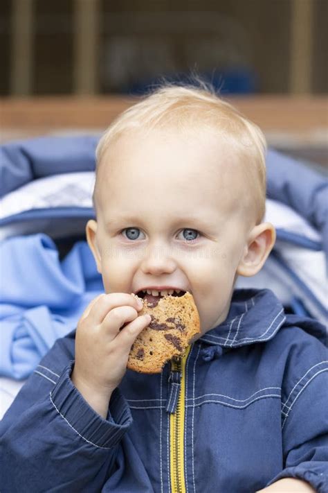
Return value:
M 284 307 L 270 289 L 235 289 L 226 320 L 199 338 L 206 345 L 203 359 L 210 361 L 233 347 L 266 342 L 285 320 Z

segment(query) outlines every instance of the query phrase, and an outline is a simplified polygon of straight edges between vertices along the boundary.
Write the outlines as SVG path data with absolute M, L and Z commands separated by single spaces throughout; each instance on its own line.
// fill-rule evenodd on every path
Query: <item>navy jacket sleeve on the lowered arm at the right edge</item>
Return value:
M 309 367 L 282 404 L 284 469 L 271 483 L 298 478 L 318 493 L 328 492 L 327 363 L 321 361 Z

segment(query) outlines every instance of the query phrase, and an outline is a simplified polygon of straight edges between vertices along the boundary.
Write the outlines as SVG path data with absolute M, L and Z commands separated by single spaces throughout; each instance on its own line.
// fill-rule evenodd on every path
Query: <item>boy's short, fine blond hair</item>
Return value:
M 179 86 L 165 82 L 122 112 L 98 143 L 95 150 L 97 166 L 113 141 L 127 132 L 172 128 L 180 132 L 215 130 L 218 137 L 228 139 L 235 146 L 242 160 L 246 178 L 253 188 L 253 200 L 257 202 L 256 224 L 259 224 L 264 218 L 266 200 L 266 139 L 263 132 L 233 105 L 217 96 L 210 84 L 199 79 L 197 83 L 198 86 Z M 97 181 L 95 189 L 96 185 Z

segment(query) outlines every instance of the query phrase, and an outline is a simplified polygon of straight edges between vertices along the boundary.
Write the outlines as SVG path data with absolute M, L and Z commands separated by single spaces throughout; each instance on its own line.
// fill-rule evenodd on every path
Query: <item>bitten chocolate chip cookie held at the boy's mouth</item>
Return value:
M 190 340 L 201 333 L 199 313 L 190 293 L 143 300 L 138 315 L 149 313 L 152 322 L 143 329 L 131 347 L 127 367 L 140 373 L 161 373 L 173 356 L 181 356 Z

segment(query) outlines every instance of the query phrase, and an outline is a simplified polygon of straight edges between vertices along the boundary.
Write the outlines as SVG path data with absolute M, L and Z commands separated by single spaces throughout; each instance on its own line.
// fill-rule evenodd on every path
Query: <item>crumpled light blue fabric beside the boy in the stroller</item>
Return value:
M 0 270 L 0 375 L 24 379 L 57 338 L 75 329 L 103 292 L 102 279 L 85 241 L 60 261 L 45 234 L 2 241 Z

